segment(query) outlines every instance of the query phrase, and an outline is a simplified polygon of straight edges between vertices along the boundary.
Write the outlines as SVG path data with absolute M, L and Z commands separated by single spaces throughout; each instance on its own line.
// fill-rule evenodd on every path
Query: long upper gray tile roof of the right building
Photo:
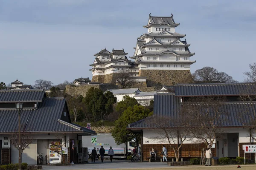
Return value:
M 212 83 L 212 84 L 177 84 L 176 96 L 239 96 L 245 91 L 255 94 L 250 83 Z

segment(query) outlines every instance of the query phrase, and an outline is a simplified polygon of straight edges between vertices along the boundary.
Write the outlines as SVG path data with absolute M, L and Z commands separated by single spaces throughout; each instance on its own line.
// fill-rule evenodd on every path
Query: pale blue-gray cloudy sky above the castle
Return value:
M 255 0 L 0 0 L 0 82 L 55 85 L 92 78 L 94 54 L 124 48 L 133 56 L 151 16 L 171 16 L 196 63 L 242 82 L 256 62 Z

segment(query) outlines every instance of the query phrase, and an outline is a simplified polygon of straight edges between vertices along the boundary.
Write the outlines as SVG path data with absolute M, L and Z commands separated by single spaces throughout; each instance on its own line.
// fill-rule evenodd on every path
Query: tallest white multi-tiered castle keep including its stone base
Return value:
M 190 44 L 186 35 L 175 32 L 179 26 L 171 17 L 152 17 L 143 26 L 148 32 L 137 39 L 134 64 L 138 65 L 139 76 L 147 77 L 147 85 L 172 85 L 191 80 L 190 65 L 195 63 L 190 57 Z

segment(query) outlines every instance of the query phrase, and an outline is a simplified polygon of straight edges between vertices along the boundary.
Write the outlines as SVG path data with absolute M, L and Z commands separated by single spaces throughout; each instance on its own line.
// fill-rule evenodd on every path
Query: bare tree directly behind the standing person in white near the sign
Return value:
M 223 102 L 223 98 L 198 97 L 183 103 L 183 110 L 190 119 L 193 141 L 212 147 L 217 133 L 222 133 L 219 127 L 229 114 L 222 109 Z

